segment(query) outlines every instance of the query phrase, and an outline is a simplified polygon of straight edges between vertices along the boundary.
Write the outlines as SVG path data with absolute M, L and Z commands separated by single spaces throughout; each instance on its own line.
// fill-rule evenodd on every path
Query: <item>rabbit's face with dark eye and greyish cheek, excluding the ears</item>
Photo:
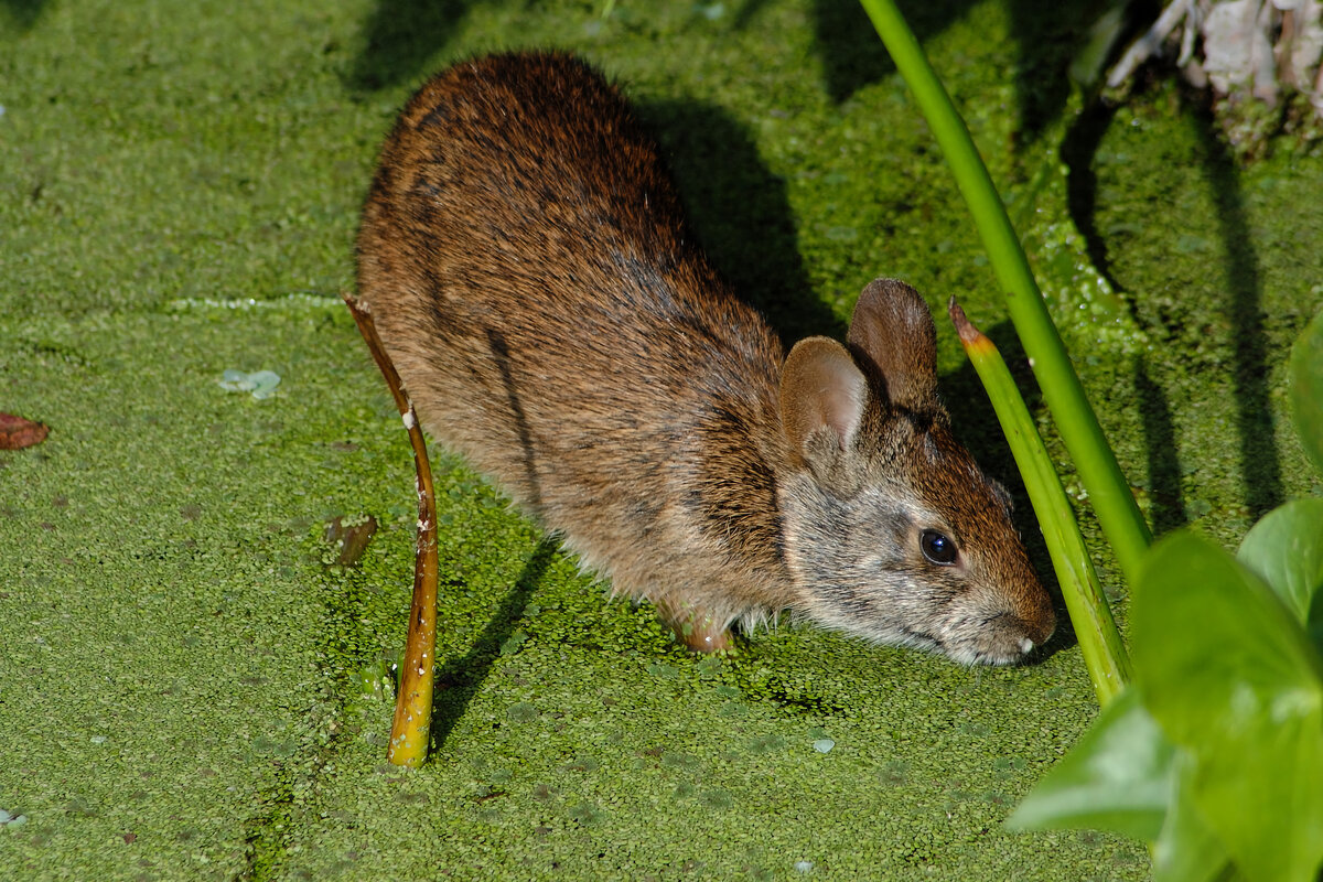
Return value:
M 1046 591 L 1011 524 L 1005 493 L 945 424 L 896 417 L 886 443 L 853 455 L 857 488 L 808 471 L 781 493 L 799 608 L 826 627 L 1012 664 L 1054 627 Z M 864 448 L 864 450 L 860 450 Z

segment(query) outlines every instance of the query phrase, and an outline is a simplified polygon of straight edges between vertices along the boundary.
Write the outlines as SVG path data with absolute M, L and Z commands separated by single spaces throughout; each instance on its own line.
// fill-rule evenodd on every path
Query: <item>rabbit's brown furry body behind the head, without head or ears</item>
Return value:
M 359 267 L 427 430 L 618 587 L 647 592 L 708 530 L 779 566 L 762 448 L 783 350 L 586 65 L 497 56 L 425 85 L 382 149 Z

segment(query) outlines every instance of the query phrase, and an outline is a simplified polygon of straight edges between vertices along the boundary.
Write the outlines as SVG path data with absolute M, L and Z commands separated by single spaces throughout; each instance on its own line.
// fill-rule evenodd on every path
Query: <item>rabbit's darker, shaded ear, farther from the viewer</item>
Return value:
M 896 279 L 873 279 L 859 295 L 847 337 L 872 364 L 900 407 L 927 411 L 937 401 L 937 328 L 918 291 Z

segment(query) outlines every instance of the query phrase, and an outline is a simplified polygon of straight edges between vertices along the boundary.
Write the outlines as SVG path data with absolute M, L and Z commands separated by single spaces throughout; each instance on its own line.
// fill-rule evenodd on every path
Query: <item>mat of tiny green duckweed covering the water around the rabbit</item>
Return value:
M 1015 354 L 853 4 L 662 5 L 0 4 L 0 411 L 52 427 L 0 452 L 0 808 L 26 817 L 0 878 L 1147 875 L 1131 842 L 1000 828 L 1091 719 L 1076 649 L 966 670 L 783 623 L 695 659 L 441 455 L 443 741 L 385 764 L 370 686 L 404 644 L 411 463 L 336 292 L 426 71 L 574 48 L 627 83 L 787 336 L 839 331 L 886 272 Z M 1082 12 L 1015 5 L 913 15 L 1154 522 L 1233 543 L 1323 489 L 1278 428 L 1323 304 L 1323 160 L 1237 172 L 1156 89 L 1103 120 L 1068 198 L 1056 77 Z M 1007 475 L 941 337 L 958 430 Z M 229 369 L 280 385 L 230 391 Z M 327 566 L 323 524 L 360 513 L 363 562 Z

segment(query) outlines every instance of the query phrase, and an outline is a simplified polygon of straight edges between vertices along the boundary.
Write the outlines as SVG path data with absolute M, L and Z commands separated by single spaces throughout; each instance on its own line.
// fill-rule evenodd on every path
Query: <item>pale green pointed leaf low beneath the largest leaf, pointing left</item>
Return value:
M 1011 829 L 1106 829 L 1151 841 L 1174 792 L 1175 747 L 1126 689 L 1007 820 Z

